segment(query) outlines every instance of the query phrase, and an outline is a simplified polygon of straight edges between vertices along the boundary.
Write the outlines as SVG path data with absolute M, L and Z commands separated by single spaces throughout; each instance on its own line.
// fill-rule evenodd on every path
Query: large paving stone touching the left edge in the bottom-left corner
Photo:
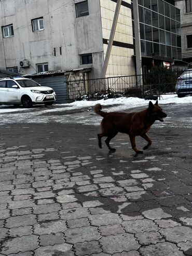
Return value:
M 35 235 L 10 238 L 2 243 L 2 253 L 5 255 L 33 251 L 36 248 L 38 248 L 38 236 Z

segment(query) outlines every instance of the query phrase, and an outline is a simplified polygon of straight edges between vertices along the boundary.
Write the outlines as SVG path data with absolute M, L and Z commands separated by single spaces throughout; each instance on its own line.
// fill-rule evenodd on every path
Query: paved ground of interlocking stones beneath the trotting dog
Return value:
M 0 255 L 192 255 L 191 105 L 183 107 L 163 107 L 167 122 L 139 156 L 125 134 L 113 139 L 116 153 L 99 149 L 99 127 L 75 119 L 99 118 L 92 111 L 67 113 L 67 124 L 55 114 L 47 124 L 32 123 L 33 111 L 2 115 Z

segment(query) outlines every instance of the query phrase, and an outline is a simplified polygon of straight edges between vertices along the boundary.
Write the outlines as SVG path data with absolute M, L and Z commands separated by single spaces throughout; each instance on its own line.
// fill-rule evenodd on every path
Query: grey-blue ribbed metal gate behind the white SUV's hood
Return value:
M 49 86 L 51 87 L 57 95 L 56 103 L 62 104 L 67 103 L 68 100 L 68 93 L 67 93 L 67 82 L 66 77 L 61 76 L 45 76 L 40 78 L 32 78 L 37 83 L 42 86 Z

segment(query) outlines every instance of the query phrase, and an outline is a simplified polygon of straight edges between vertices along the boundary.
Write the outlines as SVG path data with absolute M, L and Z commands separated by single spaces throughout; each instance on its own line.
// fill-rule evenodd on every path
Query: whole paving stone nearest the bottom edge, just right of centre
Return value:
M 135 240 L 134 236 L 127 233 L 115 236 L 103 236 L 99 242 L 102 245 L 103 252 L 111 254 L 137 250 L 139 248 L 138 242 Z

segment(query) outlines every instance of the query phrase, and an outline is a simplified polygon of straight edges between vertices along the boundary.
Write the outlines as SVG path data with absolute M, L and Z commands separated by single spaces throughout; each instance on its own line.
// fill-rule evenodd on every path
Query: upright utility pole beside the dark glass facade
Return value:
M 140 23 L 139 23 L 139 8 L 138 0 L 133 0 L 133 16 L 134 16 L 134 32 L 135 32 L 135 62 L 137 80 L 142 85 L 142 60 L 141 60 L 141 38 L 140 38 Z

